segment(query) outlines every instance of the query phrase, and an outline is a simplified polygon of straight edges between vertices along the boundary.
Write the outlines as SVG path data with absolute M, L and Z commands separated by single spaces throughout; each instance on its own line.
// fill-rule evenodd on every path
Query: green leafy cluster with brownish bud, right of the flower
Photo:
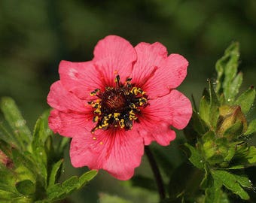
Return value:
M 248 124 L 246 119 L 255 89 L 251 86 L 237 96 L 242 83 L 238 61 L 239 45 L 233 43 L 216 63 L 216 86 L 209 80 L 209 90 L 204 89 L 199 111 L 194 110 L 188 126 L 196 135 L 184 147 L 190 152 L 190 162 L 205 174 L 199 202 L 230 202 L 232 194 L 248 200 L 246 189 L 253 188 L 244 168 L 256 165 L 255 147 L 248 145 L 248 135 L 255 132 L 256 123 L 252 120 Z

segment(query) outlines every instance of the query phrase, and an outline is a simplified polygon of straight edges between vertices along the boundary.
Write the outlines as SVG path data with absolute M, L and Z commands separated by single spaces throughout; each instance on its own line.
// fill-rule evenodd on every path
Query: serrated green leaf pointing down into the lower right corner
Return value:
M 238 178 L 236 175 L 230 174 L 227 171 L 221 170 L 212 170 L 211 174 L 214 180 L 221 182 L 227 187 L 227 189 L 230 189 L 233 193 L 239 195 L 240 198 L 245 200 L 249 199 L 248 193 L 242 189 L 242 185 L 244 184 L 241 183 L 244 183 L 244 180 L 241 180 L 241 178 Z

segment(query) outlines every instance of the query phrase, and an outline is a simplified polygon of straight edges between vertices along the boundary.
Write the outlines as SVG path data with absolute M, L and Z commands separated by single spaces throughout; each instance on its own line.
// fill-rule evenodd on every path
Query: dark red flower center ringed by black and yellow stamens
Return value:
M 96 129 L 132 129 L 133 121 L 138 120 L 141 109 L 148 105 L 148 95 L 139 87 L 130 83 L 127 78 L 125 83 L 120 83 L 120 77 L 115 77 L 115 87 L 105 87 L 105 92 L 95 89 L 90 95 L 96 95 L 98 99 L 88 102 L 94 109 L 93 122 Z

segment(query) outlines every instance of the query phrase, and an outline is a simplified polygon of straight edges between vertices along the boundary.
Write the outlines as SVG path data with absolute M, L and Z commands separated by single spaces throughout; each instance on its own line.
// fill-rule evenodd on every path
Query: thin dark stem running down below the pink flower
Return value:
M 154 159 L 153 153 L 151 153 L 151 150 L 148 146 L 145 146 L 145 153 L 148 156 L 148 162 L 151 165 L 151 169 L 154 174 L 154 179 L 156 180 L 156 183 L 157 183 L 157 189 L 158 189 L 160 200 L 163 200 L 164 198 L 166 198 L 166 192 L 164 190 L 163 179 L 161 177 L 159 168 L 157 166 L 157 162 Z

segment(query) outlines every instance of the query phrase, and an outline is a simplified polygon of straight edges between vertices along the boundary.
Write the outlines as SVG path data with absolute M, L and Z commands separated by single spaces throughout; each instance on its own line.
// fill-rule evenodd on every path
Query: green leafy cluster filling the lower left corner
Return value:
M 0 128 L 1 202 L 57 201 L 96 176 L 97 171 L 88 171 L 58 183 L 62 153 L 69 139 L 53 141 L 47 125 L 49 111 L 39 117 L 32 134 L 11 98 L 2 98 L 1 110 L 7 121 Z

